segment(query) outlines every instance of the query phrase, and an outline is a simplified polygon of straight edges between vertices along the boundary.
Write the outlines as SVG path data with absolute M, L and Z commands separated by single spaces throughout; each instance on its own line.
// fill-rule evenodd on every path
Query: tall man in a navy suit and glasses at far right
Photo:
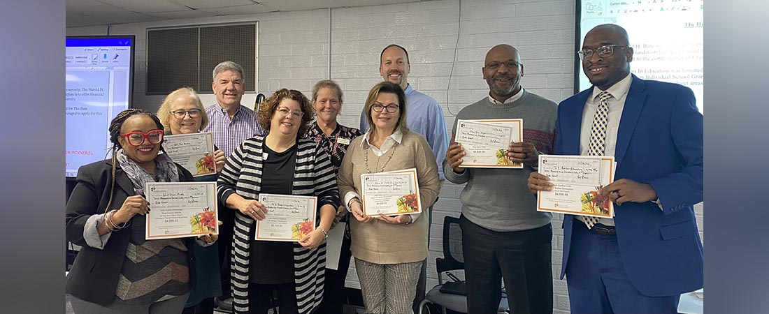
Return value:
M 681 293 L 703 284 L 694 220 L 702 201 L 702 114 L 689 88 L 630 73 L 633 48 L 618 25 L 593 28 L 578 55 L 593 86 L 558 105 L 555 154 L 588 155 L 606 91 L 603 151 L 617 170 L 600 190 L 616 204 L 614 219 L 588 228 L 584 216 L 564 215 L 561 278 L 571 313 L 677 313 Z M 548 181 L 532 173 L 529 190 L 551 190 Z

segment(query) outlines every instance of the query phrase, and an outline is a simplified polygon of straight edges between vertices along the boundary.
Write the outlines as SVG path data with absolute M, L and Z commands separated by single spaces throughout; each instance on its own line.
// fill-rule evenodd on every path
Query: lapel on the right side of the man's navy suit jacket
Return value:
M 641 116 L 641 110 L 646 103 L 646 83 L 641 78 L 633 75 L 633 82 L 628 91 L 628 97 L 625 98 L 620 126 L 617 131 L 617 145 L 614 149 L 614 160 L 618 166 L 622 163 L 622 157 L 628 151 L 628 144 L 633 135 L 635 126 L 638 123 L 638 117 Z

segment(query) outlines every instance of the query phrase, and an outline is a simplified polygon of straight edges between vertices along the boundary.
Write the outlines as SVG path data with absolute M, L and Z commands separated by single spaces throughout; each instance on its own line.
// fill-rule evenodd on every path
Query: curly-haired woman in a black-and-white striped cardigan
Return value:
M 267 313 L 273 293 L 281 313 L 312 312 L 323 298 L 325 236 L 339 196 L 328 154 L 305 134 L 314 116 L 299 91 L 281 89 L 259 106 L 267 136 L 245 140 L 218 179 L 218 197 L 235 212 L 231 283 L 235 313 Z M 259 193 L 318 197 L 315 230 L 298 242 L 255 240 L 268 214 Z M 318 223 L 319 222 L 319 223 Z

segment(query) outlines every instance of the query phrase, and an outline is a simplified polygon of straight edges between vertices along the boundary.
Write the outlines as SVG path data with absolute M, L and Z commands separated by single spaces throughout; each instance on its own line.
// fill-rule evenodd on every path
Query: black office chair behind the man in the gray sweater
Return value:
M 464 281 L 448 273 L 451 270 L 464 270 L 464 258 L 462 256 L 462 230 L 459 227 L 459 218 L 446 216 L 443 220 L 443 258 L 435 259 L 435 268 L 438 270 L 438 286 L 424 296 L 424 300 L 419 303 L 419 314 L 424 313 L 428 304 L 441 306 L 443 313 L 450 309 L 454 312 L 467 313 L 468 299 L 464 290 Z M 451 282 L 443 280 L 443 274 L 451 277 Z M 445 292 L 441 292 L 441 288 Z M 430 309 L 428 309 L 428 313 Z M 502 294 L 499 303 L 498 314 L 504 314 L 508 311 L 508 298 Z

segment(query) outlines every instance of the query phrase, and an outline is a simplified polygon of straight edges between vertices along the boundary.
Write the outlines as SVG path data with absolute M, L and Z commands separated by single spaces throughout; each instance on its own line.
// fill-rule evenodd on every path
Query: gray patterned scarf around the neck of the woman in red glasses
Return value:
M 124 150 L 119 149 L 115 154 L 118 157 L 118 164 L 131 179 L 131 183 L 134 183 L 134 190 L 138 195 L 145 195 L 144 188 L 147 182 L 179 182 L 178 169 L 168 154 L 158 154 L 158 157 L 155 157 L 155 177 L 128 158 Z M 158 178 L 158 181 L 155 181 L 155 178 Z

